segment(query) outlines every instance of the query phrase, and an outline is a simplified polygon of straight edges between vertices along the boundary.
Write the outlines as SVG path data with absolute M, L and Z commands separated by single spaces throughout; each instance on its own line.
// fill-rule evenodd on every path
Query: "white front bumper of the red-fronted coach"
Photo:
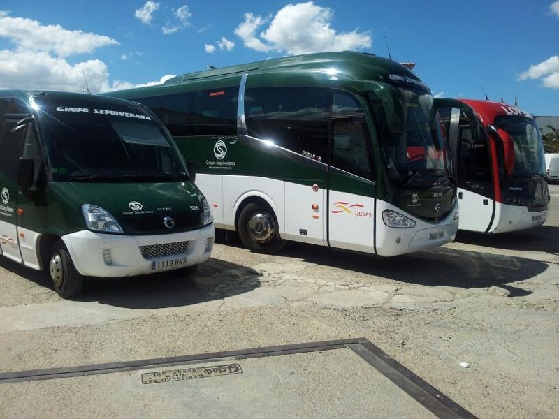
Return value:
M 507 233 L 541 226 L 546 222 L 547 210 L 528 212 L 528 207 L 495 203 L 495 221 L 488 233 Z

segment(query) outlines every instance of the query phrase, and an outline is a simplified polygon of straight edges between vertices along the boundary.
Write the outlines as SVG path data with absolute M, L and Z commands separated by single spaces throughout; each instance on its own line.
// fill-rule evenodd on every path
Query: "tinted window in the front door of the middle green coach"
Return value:
M 362 117 L 332 120 L 331 166 L 373 178 L 369 136 Z

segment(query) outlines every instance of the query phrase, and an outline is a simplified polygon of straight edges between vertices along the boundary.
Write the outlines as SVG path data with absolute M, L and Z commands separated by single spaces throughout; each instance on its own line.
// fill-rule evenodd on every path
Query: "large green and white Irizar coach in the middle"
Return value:
M 108 95 L 159 116 L 196 162 L 216 227 L 237 230 L 250 249 L 296 240 L 392 256 L 456 235 L 437 102 L 394 61 L 307 54 Z

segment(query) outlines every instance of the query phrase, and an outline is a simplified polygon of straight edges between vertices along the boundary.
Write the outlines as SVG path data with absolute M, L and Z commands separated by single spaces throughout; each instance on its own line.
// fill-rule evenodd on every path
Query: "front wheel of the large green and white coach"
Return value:
M 279 237 L 277 218 L 268 205 L 246 205 L 239 214 L 237 231 L 242 244 L 259 253 L 275 253 L 286 244 Z

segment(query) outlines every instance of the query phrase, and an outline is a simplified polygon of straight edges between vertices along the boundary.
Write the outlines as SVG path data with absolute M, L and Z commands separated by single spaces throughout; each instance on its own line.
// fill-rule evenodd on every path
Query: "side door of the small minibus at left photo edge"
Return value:
M 3 256 L 22 262 L 17 237 L 17 161 L 21 156 L 25 128 L 15 130 L 28 115 L 8 115 L 0 138 L 0 248 Z

